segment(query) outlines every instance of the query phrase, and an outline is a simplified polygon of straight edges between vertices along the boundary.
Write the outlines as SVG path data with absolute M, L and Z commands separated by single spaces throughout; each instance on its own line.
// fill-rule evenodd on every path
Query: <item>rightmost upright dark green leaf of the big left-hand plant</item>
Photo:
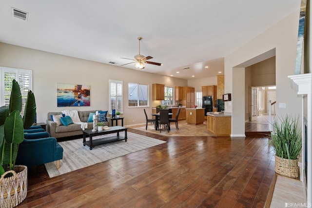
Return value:
M 24 109 L 24 116 L 23 116 L 23 126 L 24 129 L 29 128 L 33 125 L 36 116 L 36 101 L 34 93 L 29 90 L 27 94 L 27 100 Z

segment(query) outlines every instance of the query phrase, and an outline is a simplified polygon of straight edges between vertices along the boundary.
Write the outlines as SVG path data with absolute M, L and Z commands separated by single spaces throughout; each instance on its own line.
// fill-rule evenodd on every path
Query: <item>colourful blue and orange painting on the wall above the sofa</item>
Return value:
M 58 107 L 90 106 L 90 85 L 58 83 Z

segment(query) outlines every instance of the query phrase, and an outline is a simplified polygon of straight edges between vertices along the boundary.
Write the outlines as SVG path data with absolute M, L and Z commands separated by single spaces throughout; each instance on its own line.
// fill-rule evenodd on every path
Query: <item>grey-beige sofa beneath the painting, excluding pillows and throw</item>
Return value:
M 87 122 L 90 113 L 95 113 L 95 110 L 88 111 L 78 111 L 78 116 L 81 122 Z M 50 133 L 51 137 L 61 138 L 61 137 L 69 137 L 82 135 L 81 125 L 79 124 L 70 124 L 67 126 L 59 125 L 53 122 L 51 119 L 51 115 L 60 115 L 62 112 L 49 112 L 47 118 L 47 131 Z M 104 125 L 109 125 L 109 122 L 104 122 Z M 88 128 L 93 129 L 93 122 L 88 122 Z

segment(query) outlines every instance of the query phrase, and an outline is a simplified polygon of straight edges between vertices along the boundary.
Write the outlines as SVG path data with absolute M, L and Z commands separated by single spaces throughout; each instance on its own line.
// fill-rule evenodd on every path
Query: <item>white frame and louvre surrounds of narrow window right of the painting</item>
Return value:
M 116 89 L 115 89 L 115 95 L 112 96 L 112 88 L 111 84 L 116 84 Z M 121 95 L 118 95 L 118 84 L 121 85 Z M 109 89 L 109 94 L 108 94 L 108 110 L 109 113 L 112 114 L 112 109 L 116 109 L 116 112 L 119 111 L 120 113 L 123 113 L 123 81 L 118 81 L 118 80 L 108 80 L 108 89 Z M 118 103 L 118 98 L 121 102 L 120 109 L 118 109 L 117 106 L 114 105 L 114 108 L 112 108 L 112 97 L 116 97 L 115 102 Z

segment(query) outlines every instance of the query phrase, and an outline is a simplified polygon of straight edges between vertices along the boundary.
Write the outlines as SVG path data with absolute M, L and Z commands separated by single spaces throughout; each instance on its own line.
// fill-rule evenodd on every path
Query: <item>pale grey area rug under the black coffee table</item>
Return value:
M 116 133 L 96 136 L 93 137 L 93 140 L 113 135 L 116 135 Z M 124 132 L 120 132 L 119 135 L 124 137 Z M 47 169 L 49 177 L 52 178 L 86 166 L 91 166 L 113 158 L 137 152 L 142 149 L 166 143 L 162 140 L 157 140 L 151 137 L 146 137 L 131 132 L 127 133 L 127 137 L 127 142 L 125 142 L 124 140 L 120 140 L 112 143 L 94 146 L 92 150 L 90 150 L 89 146 L 82 145 L 82 138 L 60 142 L 59 144 L 63 147 L 64 152 L 63 159 L 60 161 L 59 169 L 57 169 L 56 161 L 46 163 L 44 164 L 44 166 Z M 89 138 L 87 138 L 86 140 L 88 141 Z

